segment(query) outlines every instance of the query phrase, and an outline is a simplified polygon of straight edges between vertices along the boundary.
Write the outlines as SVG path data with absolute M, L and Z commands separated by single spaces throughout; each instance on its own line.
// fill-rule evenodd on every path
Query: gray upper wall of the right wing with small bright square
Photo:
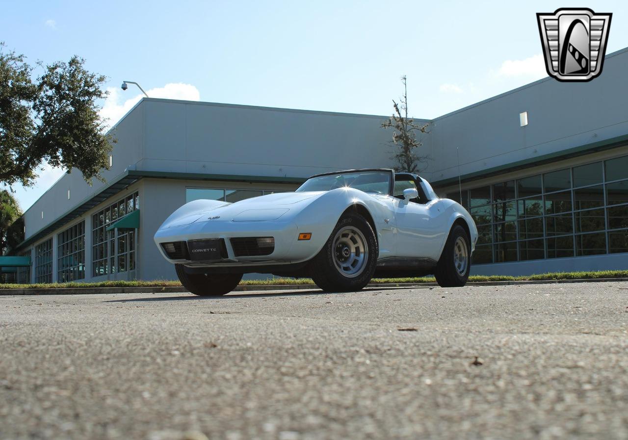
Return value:
M 426 174 L 433 182 L 628 133 L 628 48 L 607 55 L 586 83 L 544 78 L 437 117 Z M 519 113 L 528 112 L 528 126 Z

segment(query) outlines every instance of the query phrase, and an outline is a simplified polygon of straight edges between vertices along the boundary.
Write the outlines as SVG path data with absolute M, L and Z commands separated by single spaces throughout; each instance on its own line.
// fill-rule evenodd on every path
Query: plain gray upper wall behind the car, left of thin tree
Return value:
M 136 169 L 308 177 L 389 166 L 385 116 L 144 99 Z

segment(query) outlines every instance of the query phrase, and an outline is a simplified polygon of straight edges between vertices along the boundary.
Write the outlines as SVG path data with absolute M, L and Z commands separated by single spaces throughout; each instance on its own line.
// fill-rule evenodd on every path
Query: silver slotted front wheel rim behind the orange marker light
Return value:
M 360 230 L 351 226 L 341 228 L 333 237 L 332 249 L 333 263 L 343 276 L 354 278 L 364 271 L 369 249 Z

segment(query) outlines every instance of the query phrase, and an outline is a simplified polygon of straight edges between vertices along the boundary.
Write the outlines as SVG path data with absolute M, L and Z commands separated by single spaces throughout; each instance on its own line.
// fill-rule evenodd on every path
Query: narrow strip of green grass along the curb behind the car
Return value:
M 601 279 L 601 278 L 628 278 L 628 271 L 597 271 L 597 272 L 550 272 L 531 276 L 507 275 L 472 275 L 469 282 L 487 281 L 551 281 L 565 279 Z M 436 282 L 434 277 L 414 278 L 374 278 L 372 284 L 421 284 Z M 244 280 L 240 286 L 310 286 L 310 278 L 273 278 L 265 280 Z M 179 287 L 178 281 L 102 281 L 102 282 L 65 282 L 63 284 L 2 284 L 0 289 L 67 289 L 69 287 Z

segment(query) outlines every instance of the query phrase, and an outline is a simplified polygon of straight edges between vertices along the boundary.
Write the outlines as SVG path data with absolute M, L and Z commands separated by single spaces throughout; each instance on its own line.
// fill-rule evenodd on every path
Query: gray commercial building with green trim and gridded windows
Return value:
M 472 273 L 628 266 L 626 77 L 628 48 L 608 55 L 592 82 L 544 78 L 431 121 L 422 175 L 474 216 Z M 18 254 L 31 267 L 18 279 L 175 279 L 153 235 L 176 208 L 389 167 L 384 119 L 143 99 L 115 126 L 107 183 L 65 174 L 24 213 Z

